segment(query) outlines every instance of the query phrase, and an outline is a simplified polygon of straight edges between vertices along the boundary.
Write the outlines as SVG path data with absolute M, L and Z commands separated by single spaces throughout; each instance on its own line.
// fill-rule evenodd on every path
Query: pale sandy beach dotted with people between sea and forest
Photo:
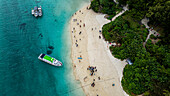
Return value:
M 109 44 L 99 32 L 102 26 L 110 21 L 104 19 L 103 14 L 88 10 L 87 6 L 77 11 L 69 23 L 72 39 L 71 58 L 76 80 L 80 80 L 87 96 L 124 96 L 126 94 L 121 87 L 121 78 L 126 62 L 112 56 Z M 90 76 L 88 66 L 96 66 L 95 75 Z M 91 86 L 92 82 L 95 83 L 94 87 Z

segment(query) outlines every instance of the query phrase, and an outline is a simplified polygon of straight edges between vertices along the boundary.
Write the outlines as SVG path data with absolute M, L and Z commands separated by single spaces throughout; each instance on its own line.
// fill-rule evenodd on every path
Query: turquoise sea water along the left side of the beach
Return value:
M 68 21 L 87 2 L 0 0 L 0 96 L 84 96 L 72 72 Z M 43 17 L 31 15 L 35 5 Z M 38 60 L 47 51 L 64 66 Z

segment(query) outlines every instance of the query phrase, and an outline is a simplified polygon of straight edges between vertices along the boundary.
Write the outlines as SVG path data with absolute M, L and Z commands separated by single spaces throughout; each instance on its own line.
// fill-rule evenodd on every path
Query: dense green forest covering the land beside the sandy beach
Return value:
M 170 1 L 169 0 L 93 0 L 91 8 L 114 16 L 120 6 L 128 4 L 129 11 L 102 28 L 105 40 L 121 46 L 111 46 L 114 57 L 130 58 L 132 65 L 126 65 L 122 86 L 129 95 L 170 96 Z M 150 36 L 144 46 L 148 29 L 141 25 L 144 17 L 149 26 L 161 36 Z M 159 30 L 160 29 L 160 30 Z

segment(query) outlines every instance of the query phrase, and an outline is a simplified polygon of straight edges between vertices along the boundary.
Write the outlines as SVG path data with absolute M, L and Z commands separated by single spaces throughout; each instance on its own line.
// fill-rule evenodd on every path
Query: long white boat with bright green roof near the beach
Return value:
M 38 57 L 39 60 L 42 60 L 46 63 L 49 63 L 50 65 L 53 65 L 53 66 L 62 66 L 63 64 L 58 61 L 57 59 L 49 56 L 49 55 L 46 55 L 46 54 L 40 54 L 39 57 Z

